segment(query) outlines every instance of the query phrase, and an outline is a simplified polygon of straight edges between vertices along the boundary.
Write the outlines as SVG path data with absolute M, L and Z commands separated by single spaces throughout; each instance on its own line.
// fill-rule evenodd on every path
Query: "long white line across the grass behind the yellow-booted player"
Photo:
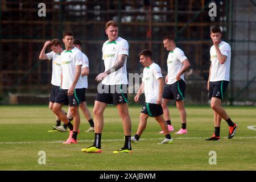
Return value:
M 228 138 L 228 137 L 222 137 L 222 138 Z M 256 139 L 256 137 L 235 137 L 237 139 Z M 139 140 L 161 140 L 163 138 L 142 138 Z M 204 137 L 177 137 L 174 138 L 174 140 L 176 139 L 205 139 Z M 118 141 L 123 141 L 124 139 L 102 139 L 102 142 L 118 142 Z M 79 143 L 81 142 L 93 142 L 94 140 L 78 140 Z M 32 141 L 32 142 L 0 142 L 0 144 L 37 144 L 37 143 L 63 143 L 63 141 Z

